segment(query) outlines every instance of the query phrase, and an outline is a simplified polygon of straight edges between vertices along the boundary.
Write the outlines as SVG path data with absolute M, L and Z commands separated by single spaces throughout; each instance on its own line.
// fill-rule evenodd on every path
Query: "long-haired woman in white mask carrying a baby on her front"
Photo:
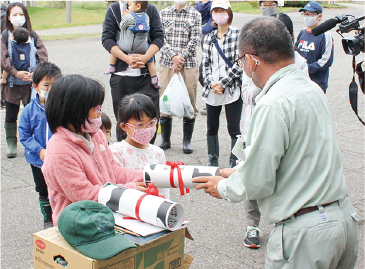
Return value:
M 17 70 L 11 60 L 12 33 L 15 29 L 24 27 L 30 34 L 31 52 L 30 62 L 33 66 L 26 71 Z M 39 35 L 33 31 L 27 8 L 22 3 L 12 3 L 6 11 L 5 30 L 1 36 L 1 69 L 8 72 L 9 76 L 4 84 L 1 84 L 1 96 L 5 100 L 5 133 L 7 142 L 8 158 L 16 157 L 17 147 L 17 118 L 19 114 L 20 101 L 23 105 L 30 102 L 32 68 L 39 62 L 47 62 L 48 53 Z

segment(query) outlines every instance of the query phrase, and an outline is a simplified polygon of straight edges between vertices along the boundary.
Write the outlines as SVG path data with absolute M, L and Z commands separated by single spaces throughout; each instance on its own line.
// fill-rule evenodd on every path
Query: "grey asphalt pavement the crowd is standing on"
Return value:
M 325 9 L 324 20 L 340 13 L 356 16 L 364 12 L 363 2 L 349 4 L 346 9 Z M 304 27 L 299 12 L 288 13 L 294 23 L 295 35 Z M 234 14 L 233 26 L 242 25 L 257 15 Z M 38 31 L 41 35 L 63 33 L 97 33 L 101 25 Z M 351 110 L 348 85 L 352 79 L 352 57 L 343 52 L 341 37 L 331 30 L 335 45 L 335 59 L 331 67 L 327 99 L 331 108 L 337 138 L 341 148 L 344 174 L 348 184 L 348 195 L 360 215 L 360 252 L 356 268 L 364 268 L 364 127 Z M 353 36 L 350 33 L 347 36 Z M 108 67 L 109 54 L 101 45 L 100 38 L 46 41 L 49 61 L 57 64 L 64 74 L 82 74 L 99 80 L 106 89 L 103 111 L 112 119 L 112 143 L 115 139 L 115 118 L 110 95 L 109 76 L 103 74 Z M 200 53 L 200 52 L 199 52 Z M 199 54 L 201 55 L 201 54 Z M 157 55 L 158 57 L 158 55 Z M 200 56 L 199 56 L 200 57 Z M 364 56 L 358 56 L 358 61 Z M 198 88 L 200 96 L 201 88 Z M 205 103 L 198 98 L 197 107 Z M 365 118 L 364 95 L 359 94 L 359 114 Z M 1 109 L 1 121 L 5 111 Z M 225 114 L 220 117 L 220 166 L 228 166 L 230 138 L 226 128 Z M 156 142 L 160 141 L 160 135 Z M 182 152 L 182 119 L 174 118 L 172 148 L 165 151 L 168 161 L 183 161 L 187 165 L 205 165 L 207 162 L 206 118 L 199 115 L 193 134 L 194 153 Z M 32 235 L 43 228 L 38 205 L 38 196 L 29 164 L 24 158 L 24 148 L 18 143 L 18 157 L 6 158 L 4 129 L 1 128 L 1 268 L 33 268 Z M 194 241 L 186 239 L 185 251 L 194 257 L 192 269 L 221 268 L 264 268 L 266 244 L 270 230 L 262 220 L 260 228 L 261 248 L 252 250 L 242 244 L 246 223 L 242 204 L 230 204 L 214 199 L 203 191 L 192 190 L 180 196 L 171 190 L 171 199 L 180 202 Z

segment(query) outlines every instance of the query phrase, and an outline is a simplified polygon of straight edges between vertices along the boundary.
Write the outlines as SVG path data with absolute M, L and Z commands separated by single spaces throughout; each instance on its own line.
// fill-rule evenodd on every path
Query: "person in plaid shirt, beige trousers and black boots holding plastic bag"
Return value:
M 195 103 L 199 78 L 197 49 L 201 41 L 201 15 L 197 10 L 187 5 L 187 1 L 175 1 L 171 7 L 162 10 L 160 15 L 165 37 L 158 68 L 158 77 L 161 84 L 160 96 L 174 73 L 180 72 L 194 108 L 194 118 L 184 118 L 183 121 L 183 151 L 189 154 L 193 152 L 191 137 L 195 117 L 198 113 Z M 171 116 L 161 115 L 160 123 L 162 136 L 160 147 L 168 149 L 171 147 Z

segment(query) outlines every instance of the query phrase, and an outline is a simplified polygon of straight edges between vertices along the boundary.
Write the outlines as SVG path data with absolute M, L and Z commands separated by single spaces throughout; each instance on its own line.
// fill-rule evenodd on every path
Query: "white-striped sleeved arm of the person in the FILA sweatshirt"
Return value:
M 317 61 L 308 64 L 309 74 L 320 72 L 330 67 L 333 63 L 333 40 L 329 32 L 324 33 L 321 47 L 323 48 L 321 57 Z

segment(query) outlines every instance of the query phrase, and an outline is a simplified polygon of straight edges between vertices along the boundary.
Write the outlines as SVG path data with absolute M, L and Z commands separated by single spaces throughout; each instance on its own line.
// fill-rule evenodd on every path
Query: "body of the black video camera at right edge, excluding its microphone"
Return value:
M 343 50 L 345 51 L 346 54 L 356 56 L 360 52 L 365 52 L 364 51 L 365 27 L 364 26 L 360 27 L 359 23 L 359 21 L 363 20 L 364 18 L 365 16 L 354 18 L 352 15 L 346 15 L 343 18 L 343 21 L 339 25 L 338 29 L 336 30 L 336 32 L 339 33 L 341 36 L 343 33 L 348 33 L 354 30 L 358 31 L 358 33 L 354 37 L 342 39 Z

